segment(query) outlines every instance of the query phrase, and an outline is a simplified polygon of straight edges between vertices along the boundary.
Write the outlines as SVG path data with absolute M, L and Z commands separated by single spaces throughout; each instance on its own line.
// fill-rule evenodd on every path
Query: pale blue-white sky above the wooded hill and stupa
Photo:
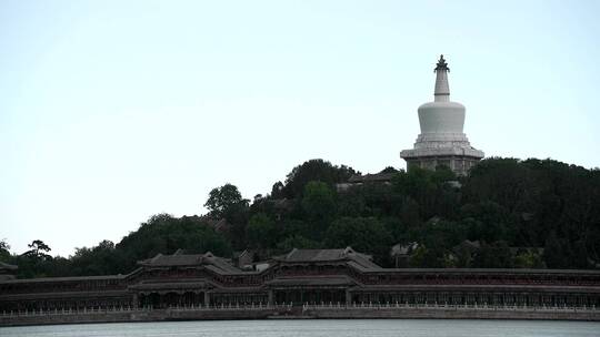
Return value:
M 399 157 L 440 53 L 487 156 L 600 166 L 599 1 L 0 2 L 0 239 L 119 242 L 212 187 Z

